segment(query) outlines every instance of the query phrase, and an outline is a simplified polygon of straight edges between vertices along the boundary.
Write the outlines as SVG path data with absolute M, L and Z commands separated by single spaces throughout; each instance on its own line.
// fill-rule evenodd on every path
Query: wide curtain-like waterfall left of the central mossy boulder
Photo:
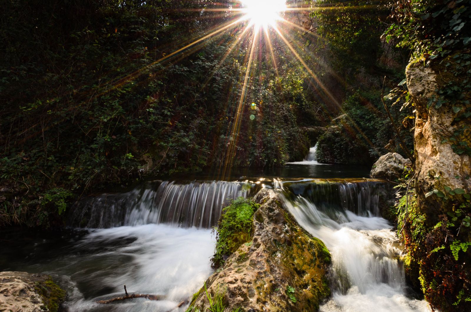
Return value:
M 231 199 L 247 197 L 251 184 L 226 181 L 153 181 L 122 194 L 88 197 L 73 207 L 72 227 L 111 228 L 150 223 L 211 228 Z

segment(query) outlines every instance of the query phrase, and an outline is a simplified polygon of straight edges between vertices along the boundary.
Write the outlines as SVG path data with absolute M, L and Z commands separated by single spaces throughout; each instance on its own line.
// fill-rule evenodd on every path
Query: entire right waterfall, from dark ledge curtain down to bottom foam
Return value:
M 374 185 L 288 189 L 278 190 L 284 205 L 332 255 L 333 297 L 321 311 L 430 311 L 427 302 L 406 296 L 402 251 L 392 225 L 378 216 Z

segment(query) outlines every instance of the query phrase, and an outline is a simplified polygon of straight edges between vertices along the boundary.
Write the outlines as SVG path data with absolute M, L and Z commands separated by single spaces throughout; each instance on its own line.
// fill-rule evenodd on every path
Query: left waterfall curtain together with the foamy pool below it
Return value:
M 251 187 L 247 182 L 152 181 L 127 193 L 86 198 L 73 207 L 69 225 L 90 230 L 33 238 L 32 252 L 21 260 L 17 249 L 5 252 L 0 271 L 53 276 L 67 291 L 70 312 L 185 311 L 179 302 L 212 272 L 210 228 L 230 199 L 246 197 Z M 163 299 L 97 303 L 123 296 L 123 285 L 130 293 Z

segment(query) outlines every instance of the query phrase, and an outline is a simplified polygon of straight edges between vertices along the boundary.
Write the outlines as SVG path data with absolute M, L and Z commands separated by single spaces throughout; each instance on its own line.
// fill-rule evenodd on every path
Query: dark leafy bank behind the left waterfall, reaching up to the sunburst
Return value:
M 41 214 L 34 200 L 54 189 L 80 195 L 149 174 L 221 168 L 225 159 L 271 167 L 307 154 L 299 126 L 328 118 L 309 95 L 309 75 L 283 49 L 275 52 L 277 72 L 254 61 L 240 130 L 231 133 L 249 42 L 221 59 L 244 25 L 165 58 L 232 17 L 186 8 L 185 1 L 4 3 L 1 224 Z M 236 148 L 227 156 L 230 142 Z

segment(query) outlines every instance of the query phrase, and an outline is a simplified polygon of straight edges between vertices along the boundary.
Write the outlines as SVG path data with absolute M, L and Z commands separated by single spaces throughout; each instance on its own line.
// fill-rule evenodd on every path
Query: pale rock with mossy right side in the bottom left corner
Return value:
M 0 272 L 0 311 L 56 312 L 64 299 L 49 275 Z

